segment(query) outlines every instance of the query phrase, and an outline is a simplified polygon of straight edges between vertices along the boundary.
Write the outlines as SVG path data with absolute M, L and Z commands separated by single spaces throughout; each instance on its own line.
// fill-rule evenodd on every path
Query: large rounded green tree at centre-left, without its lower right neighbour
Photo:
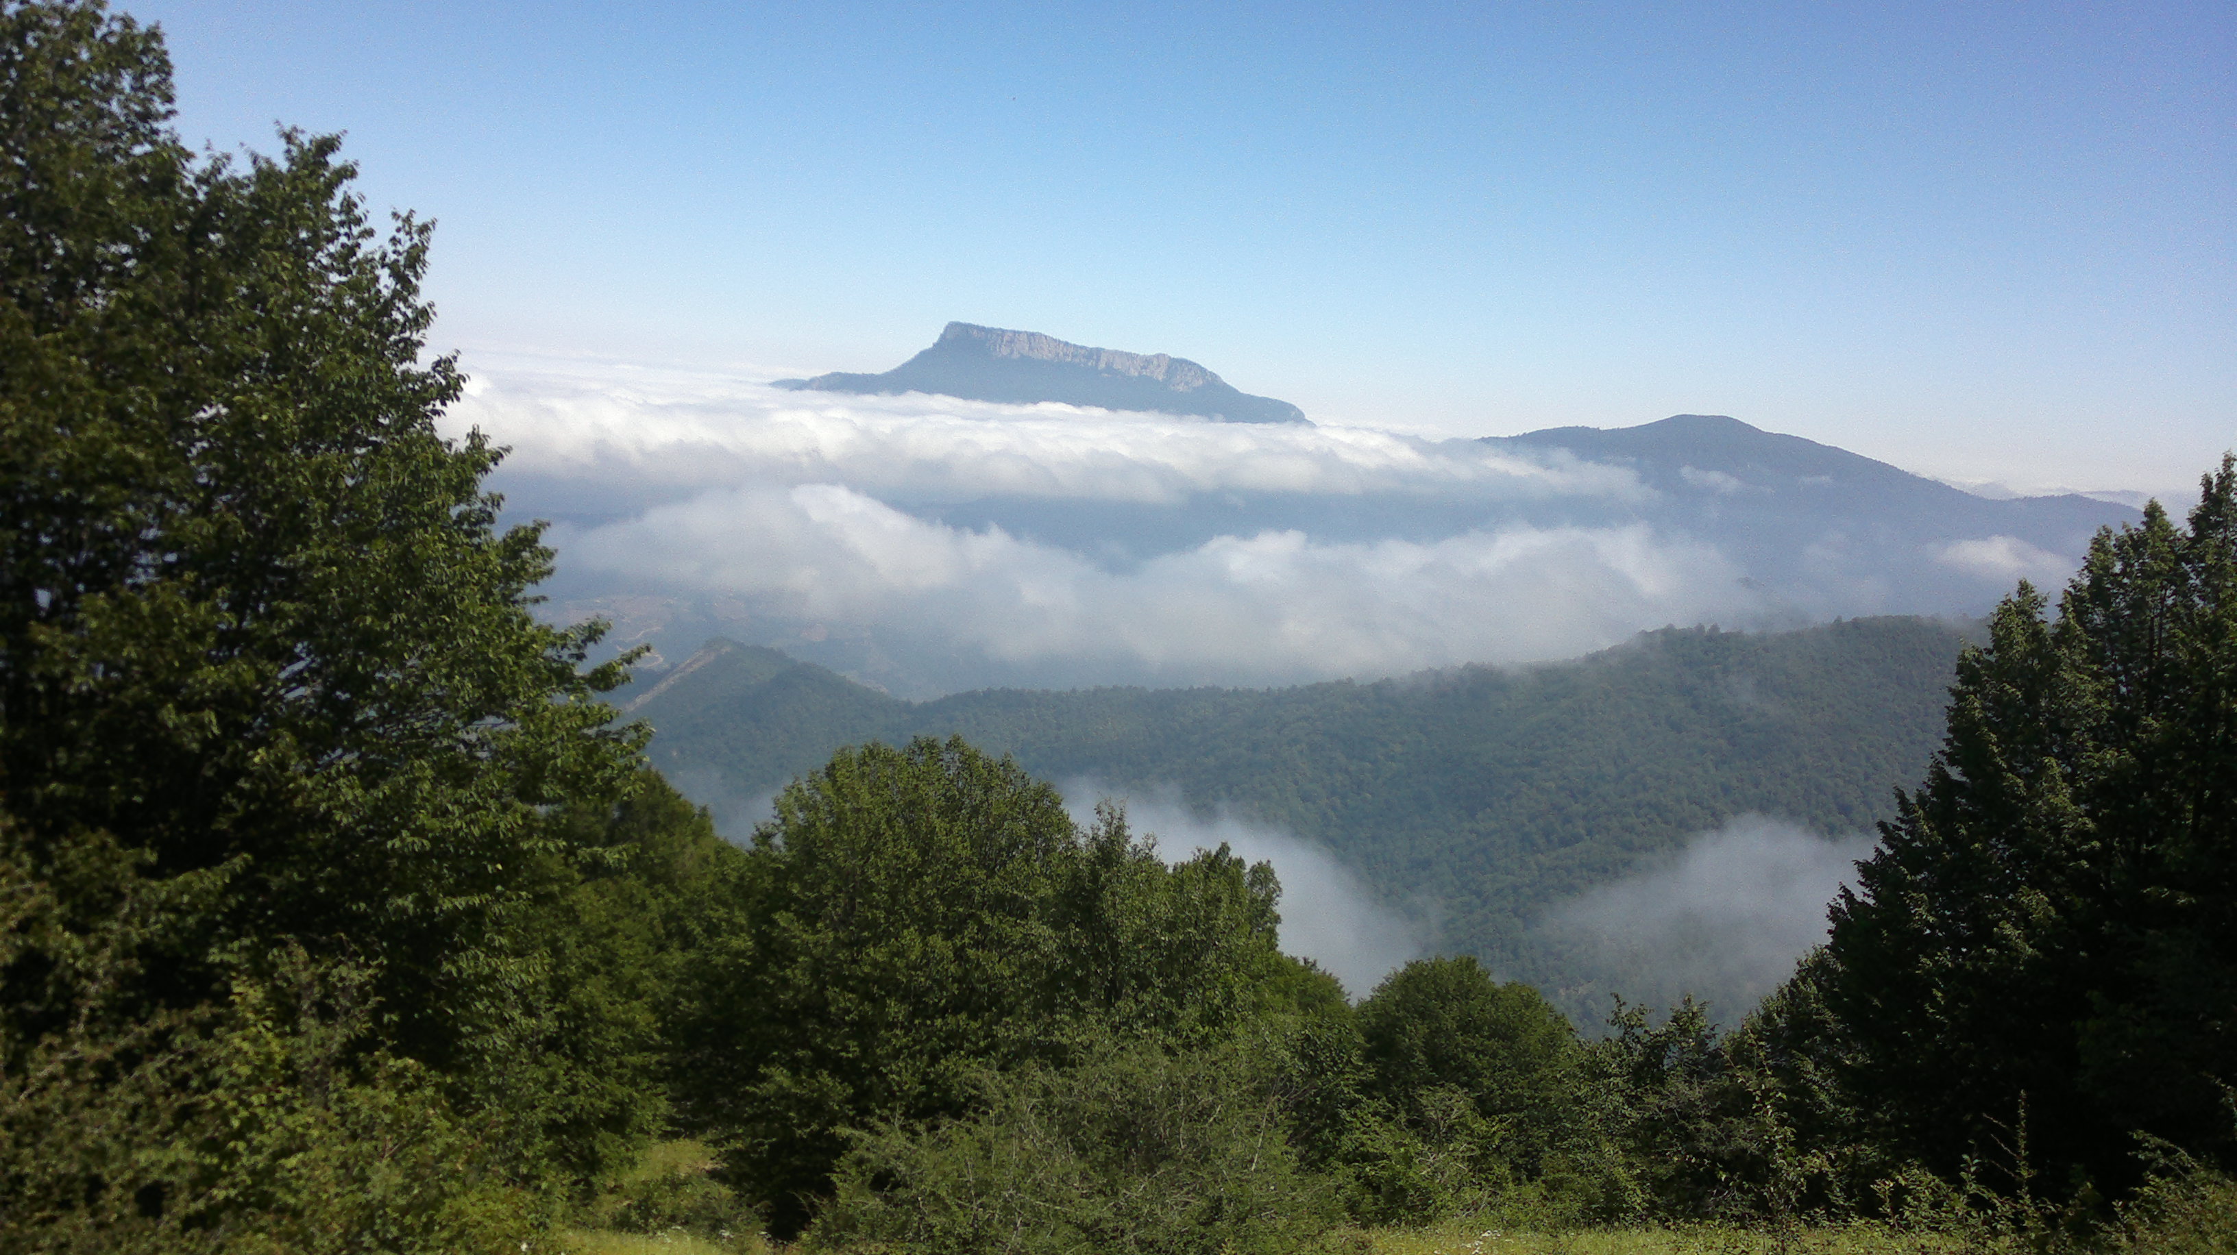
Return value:
M 960 1110 L 984 1060 L 1047 1049 L 1056 790 L 962 743 L 870 745 L 776 799 L 682 1034 L 696 1121 L 796 1233 L 841 1130 Z

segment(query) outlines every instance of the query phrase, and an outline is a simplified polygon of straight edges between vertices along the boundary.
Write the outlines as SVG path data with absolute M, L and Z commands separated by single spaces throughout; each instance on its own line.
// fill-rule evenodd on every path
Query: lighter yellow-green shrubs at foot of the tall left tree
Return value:
M 503 1121 L 461 1119 L 425 1067 L 362 1051 L 362 973 L 271 955 L 221 1002 L 150 1013 L 150 957 L 224 870 L 139 875 L 83 834 L 34 875 L 0 817 L 0 1251 L 512 1253 L 535 1199 Z

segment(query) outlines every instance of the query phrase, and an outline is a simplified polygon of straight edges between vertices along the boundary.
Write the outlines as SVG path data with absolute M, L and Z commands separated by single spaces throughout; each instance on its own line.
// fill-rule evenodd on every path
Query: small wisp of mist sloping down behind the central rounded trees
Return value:
M 1069 781 L 1063 792 L 1078 823 L 1092 823 L 1094 805 L 1112 796 L 1094 781 Z M 1177 790 L 1134 790 L 1116 801 L 1127 825 L 1154 834 L 1170 861 L 1226 846 L 1246 864 L 1273 864 L 1282 881 L 1282 951 L 1333 973 L 1353 1000 L 1425 953 L 1427 928 L 1378 899 L 1322 846 L 1226 810 L 1199 817 Z

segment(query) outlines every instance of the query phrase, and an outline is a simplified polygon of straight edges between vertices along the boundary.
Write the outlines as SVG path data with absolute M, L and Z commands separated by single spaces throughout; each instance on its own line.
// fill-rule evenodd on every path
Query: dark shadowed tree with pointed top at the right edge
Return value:
M 2101 532 L 2047 620 L 1998 606 L 1948 736 L 1832 910 L 1846 1081 L 1931 1166 L 2136 1179 L 2132 1132 L 2230 1148 L 2237 470 L 2188 528 Z

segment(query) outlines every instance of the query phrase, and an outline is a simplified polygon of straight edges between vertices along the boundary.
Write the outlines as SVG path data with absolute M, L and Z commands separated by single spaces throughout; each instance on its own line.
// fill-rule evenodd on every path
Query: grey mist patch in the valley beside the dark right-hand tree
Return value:
M 1693 993 L 1734 1025 L 1825 942 L 1825 908 L 1870 852 L 1870 837 L 1745 814 L 1555 906 L 1535 940 L 1608 993 L 1653 1007 Z

